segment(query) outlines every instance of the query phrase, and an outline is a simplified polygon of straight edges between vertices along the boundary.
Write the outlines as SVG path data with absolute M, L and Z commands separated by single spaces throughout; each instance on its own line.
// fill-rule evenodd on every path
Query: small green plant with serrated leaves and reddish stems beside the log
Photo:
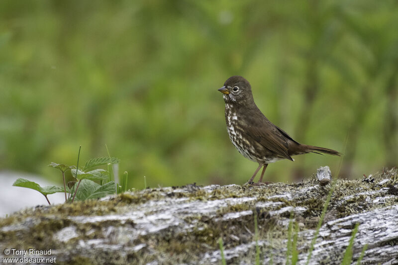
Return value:
M 111 177 L 111 173 L 104 169 L 95 169 L 103 165 L 107 165 L 108 169 L 111 168 L 112 164 L 119 163 L 119 159 L 114 157 L 100 157 L 90 159 L 86 162 L 83 168 L 79 168 L 80 150 L 78 153 L 78 161 L 75 166 L 67 166 L 65 164 L 51 163 L 49 167 L 55 168 L 62 173 L 64 187 L 57 187 L 54 185 L 41 187 L 38 183 L 30 181 L 25 178 L 18 178 L 12 184 L 13 186 L 26 187 L 39 191 L 47 199 L 48 204 L 51 205 L 47 195 L 56 192 L 65 193 L 65 201 L 74 202 L 76 200 L 88 200 L 101 198 L 106 195 L 114 194 L 116 192 L 116 184 Z M 110 165 L 110 166 L 109 166 Z M 68 186 L 65 183 L 65 173 L 71 171 L 72 177 L 76 181 L 68 182 Z M 127 189 L 127 173 L 125 173 L 123 190 Z M 100 183 L 97 183 L 97 182 Z M 68 196 L 66 194 L 69 194 Z M 73 196 L 72 196 L 73 194 Z

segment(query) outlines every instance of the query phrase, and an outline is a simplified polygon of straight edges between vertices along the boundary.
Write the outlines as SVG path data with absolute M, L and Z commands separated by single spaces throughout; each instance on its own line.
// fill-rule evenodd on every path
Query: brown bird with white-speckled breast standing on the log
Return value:
M 262 180 L 268 164 L 282 159 L 294 161 L 292 156 L 306 153 L 341 156 L 332 149 L 300 144 L 268 120 L 254 102 L 250 83 L 245 78 L 232 76 L 218 91 L 225 102 L 229 139 L 241 155 L 259 164 L 248 183 L 254 184 L 253 179 L 263 168 L 257 184 L 264 184 Z

